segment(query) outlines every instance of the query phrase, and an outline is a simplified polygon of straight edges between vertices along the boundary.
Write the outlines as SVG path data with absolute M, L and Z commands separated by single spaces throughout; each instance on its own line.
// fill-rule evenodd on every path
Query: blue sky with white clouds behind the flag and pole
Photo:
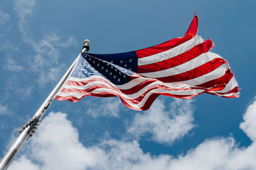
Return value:
M 54 100 L 10 169 L 256 169 L 255 1 L 0 3 L 0 157 L 81 50 L 138 50 L 198 35 L 227 59 L 239 98 L 159 97 L 148 111 L 119 98 Z M 19 167 L 19 168 L 18 168 Z

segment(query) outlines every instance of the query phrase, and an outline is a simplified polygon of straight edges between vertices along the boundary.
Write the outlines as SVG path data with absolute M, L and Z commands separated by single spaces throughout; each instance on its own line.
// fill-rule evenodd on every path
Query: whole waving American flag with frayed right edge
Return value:
M 55 98 L 77 102 L 86 95 L 120 97 L 134 110 L 147 110 L 159 95 L 190 99 L 202 93 L 239 97 L 228 63 L 209 50 L 195 15 L 185 36 L 118 54 L 81 53 Z

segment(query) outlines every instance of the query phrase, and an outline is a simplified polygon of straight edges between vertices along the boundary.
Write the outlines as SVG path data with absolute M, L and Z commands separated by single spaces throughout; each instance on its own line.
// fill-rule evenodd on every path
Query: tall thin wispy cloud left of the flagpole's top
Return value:
M 28 62 L 28 71 L 36 73 L 38 79 L 37 84 L 42 87 L 47 82 L 57 81 L 60 78 L 60 73 L 63 71 L 64 64 L 60 64 L 60 47 L 68 47 L 73 44 L 74 38 L 69 37 L 66 42 L 61 42 L 60 36 L 56 33 L 44 34 L 41 40 L 36 40 L 33 36 L 29 24 L 33 20 L 33 12 L 36 5 L 35 0 L 15 0 L 15 10 L 19 15 L 19 29 L 23 42 L 31 45 L 35 50 L 35 55 L 26 56 L 31 62 Z M 27 68 L 26 67 L 26 68 Z M 22 67 L 20 67 L 22 68 Z M 10 67 L 12 69 L 12 67 Z M 30 70 L 29 70 L 30 69 Z M 52 78 L 52 76 L 56 76 Z

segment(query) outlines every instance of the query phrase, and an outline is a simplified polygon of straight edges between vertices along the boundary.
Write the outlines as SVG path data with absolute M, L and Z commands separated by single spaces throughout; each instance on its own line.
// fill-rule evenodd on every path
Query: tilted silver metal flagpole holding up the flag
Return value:
M 87 52 L 89 50 L 89 47 L 90 47 L 90 41 L 84 40 L 84 45 L 83 45 L 81 52 Z M 6 152 L 6 154 L 4 155 L 4 157 L 2 158 L 2 160 L 0 162 L 0 170 L 5 170 L 10 166 L 13 158 L 15 158 L 15 156 L 17 155 L 17 153 L 19 152 L 20 148 L 25 143 L 25 141 L 28 140 L 29 137 L 32 137 L 32 135 L 35 133 L 35 130 L 39 126 L 42 116 L 44 115 L 44 112 L 47 110 L 47 108 L 51 104 L 54 96 L 56 95 L 58 90 L 61 88 L 62 84 L 66 81 L 69 73 L 71 72 L 72 68 L 74 68 L 74 65 L 76 64 L 77 59 L 79 59 L 79 56 L 77 56 L 75 61 L 68 68 L 67 72 L 63 75 L 63 77 L 60 79 L 60 81 L 55 86 L 55 88 L 52 89 L 50 95 L 45 99 L 44 103 L 36 111 L 33 118 L 31 120 L 29 120 L 28 123 L 26 123 L 19 130 L 19 135 L 18 135 L 15 143 L 12 144 L 12 146 Z

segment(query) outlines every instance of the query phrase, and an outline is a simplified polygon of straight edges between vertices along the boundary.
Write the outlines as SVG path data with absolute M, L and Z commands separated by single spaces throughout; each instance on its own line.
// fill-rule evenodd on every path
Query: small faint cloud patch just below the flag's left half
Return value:
M 99 105 L 99 102 L 96 104 L 90 103 L 88 105 L 88 109 L 86 114 L 91 115 L 93 118 L 97 118 L 99 116 L 113 116 L 118 117 L 118 113 L 120 112 L 120 105 L 122 105 L 121 100 L 119 98 L 101 98 L 102 103 Z

